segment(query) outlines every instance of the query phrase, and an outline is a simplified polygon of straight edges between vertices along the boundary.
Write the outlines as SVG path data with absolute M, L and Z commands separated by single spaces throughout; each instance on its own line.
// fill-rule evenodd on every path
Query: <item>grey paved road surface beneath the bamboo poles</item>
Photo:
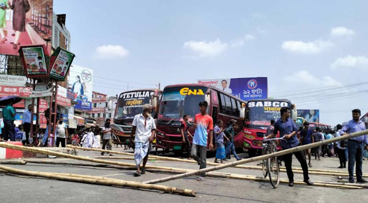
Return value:
M 114 150 L 121 151 L 122 148 Z M 79 155 L 95 157 L 98 152 L 80 151 Z M 116 155 L 117 156 L 117 155 Z M 247 157 L 247 154 L 241 156 Z M 75 161 L 58 158 L 54 160 Z M 213 161 L 209 158 L 208 161 Z M 234 160 L 234 159 L 232 159 Z M 116 160 L 115 160 L 116 161 Z M 133 160 L 117 160 L 133 163 Z M 313 168 L 323 170 L 338 170 L 338 158 L 324 158 L 322 161 L 313 160 Z M 198 166 L 190 163 L 150 160 L 150 165 L 171 166 L 179 168 L 197 169 Z M 249 163 L 256 165 L 257 163 Z M 298 162 L 293 159 L 293 165 L 298 167 Z M 66 166 L 27 163 L 26 165 L 7 165 L 30 171 L 73 173 L 93 176 L 105 176 L 109 178 L 147 181 L 168 174 L 149 173 L 142 177 L 133 177 L 133 171 L 125 171 L 114 168 L 97 168 L 85 166 Z M 346 171 L 346 170 L 342 170 Z M 242 170 L 239 168 L 225 168 L 220 172 L 260 176 L 259 170 Z M 363 172 L 368 173 L 368 161 L 363 162 Z M 336 181 L 332 176 L 311 175 L 312 181 Z M 286 178 L 282 173 L 281 178 Z M 295 174 L 296 180 L 302 180 L 302 174 Z M 368 178 L 367 178 L 368 179 Z M 186 197 L 173 194 L 159 193 L 156 191 L 128 189 L 121 187 L 108 187 L 73 182 L 63 182 L 41 178 L 28 178 L 5 175 L 0 173 L 1 202 L 366 202 L 368 190 L 335 189 L 326 187 L 294 186 L 288 187 L 281 184 L 273 189 L 269 182 L 255 182 L 236 179 L 208 178 L 205 182 L 197 182 L 196 177 L 160 183 L 162 185 L 194 189 L 196 197 Z

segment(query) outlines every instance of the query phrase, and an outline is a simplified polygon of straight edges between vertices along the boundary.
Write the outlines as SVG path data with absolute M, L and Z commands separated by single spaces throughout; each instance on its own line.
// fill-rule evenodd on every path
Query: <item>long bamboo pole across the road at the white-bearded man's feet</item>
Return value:
M 108 166 L 108 165 L 101 165 L 101 164 L 90 164 L 90 163 L 73 163 L 73 162 L 64 162 L 64 161 L 54 161 L 54 160 L 29 160 L 29 159 L 24 159 L 23 161 L 25 162 L 30 162 L 30 163 L 51 163 L 51 164 L 65 164 L 65 165 L 82 165 L 82 166 L 96 166 L 96 167 L 112 167 L 112 168 L 119 168 L 119 169 L 125 169 L 125 170 L 135 170 L 134 167 L 121 167 L 121 166 Z M 157 169 L 157 168 L 147 168 L 146 169 L 147 172 L 153 172 L 153 173 L 170 173 L 170 174 L 181 174 L 181 173 L 186 173 L 186 172 L 192 172 L 195 170 L 188 170 L 188 169 L 183 169 L 183 168 L 174 168 L 174 169 Z M 55 174 L 55 173 L 52 173 Z M 67 175 L 67 174 L 62 174 L 62 175 Z M 262 177 L 260 178 L 249 178 L 249 177 L 255 177 L 255 176 L 249 176 L 249 175 L 240 175 L 240 174 L 231 174 L 231 173 L 218 173 L 218 172 L 212 172 L 212 173 L 206 173 L 207 176 L 209 177 L 216 177 L 216 178 L 229 178 L 229 179 L 240 179 L 240 180 L 255 180 L 255 181 L 269 181 L 268 178 L 262 179 Z M 74 175 L 75 177 L 84 177 L 84 178 L 88 178 L 88 176 L 84 176 L 84 175 Z M 105 178 L 107 179 L 107 178 Z M 283 180 L 283 179 L 281 179 Z M 288 183 L 288 181 L 285 179 L 283 183 Z M 363 188 L 368 188 L 368 184 L 351 184 L 351 183 L 334 183 L 334 182 L 319 182 L 316 181 L 315 183 L 319 183 L 316 184 L 315 186 L 322 186 L 322 187 L 331 187 L 329 185 L 333 184 L 333 185 L 337 185 L 337 188 L 347 188 L 347 189 L 360 189 L 359 187 L 363 187 Z M 296 181 L 295 184 L 297 185 L 306 185 L 303 181 Z M 327 184 L 327 185 L 326 185 Z M 352 187 L 341 187 L 341 186 L 352 186 Z

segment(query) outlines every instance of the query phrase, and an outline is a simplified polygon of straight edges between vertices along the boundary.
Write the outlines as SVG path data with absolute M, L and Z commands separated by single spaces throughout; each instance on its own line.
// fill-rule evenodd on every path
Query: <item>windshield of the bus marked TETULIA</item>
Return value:
M 133 119 L 135 115 L 142 113 L 143 105 L 150 103 L 153 94 L 153 91 L 132 91 L 120 94 L 115 119 Z

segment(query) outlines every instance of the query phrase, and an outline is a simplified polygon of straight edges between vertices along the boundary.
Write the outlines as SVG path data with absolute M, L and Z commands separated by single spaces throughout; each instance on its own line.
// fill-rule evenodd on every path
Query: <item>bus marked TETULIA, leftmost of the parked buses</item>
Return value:
M 122 92 L 119 95 L 113 119 L 113 133 L 120 143 L 127 144 L 132 130 L 131 123 L 135 115 L 142 113 L 144 104 L 153 107 L 152 117 L 157 118 L 157 110 L 162 90 L 141 89 Z

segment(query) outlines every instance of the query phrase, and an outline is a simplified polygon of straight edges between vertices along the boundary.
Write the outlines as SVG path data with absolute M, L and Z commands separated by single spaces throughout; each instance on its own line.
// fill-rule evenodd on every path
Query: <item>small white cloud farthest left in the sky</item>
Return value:
M 102 45 L 96 48 L 96 56 L 102 59 L 125 58 L 129 50 L 120 45 Z

